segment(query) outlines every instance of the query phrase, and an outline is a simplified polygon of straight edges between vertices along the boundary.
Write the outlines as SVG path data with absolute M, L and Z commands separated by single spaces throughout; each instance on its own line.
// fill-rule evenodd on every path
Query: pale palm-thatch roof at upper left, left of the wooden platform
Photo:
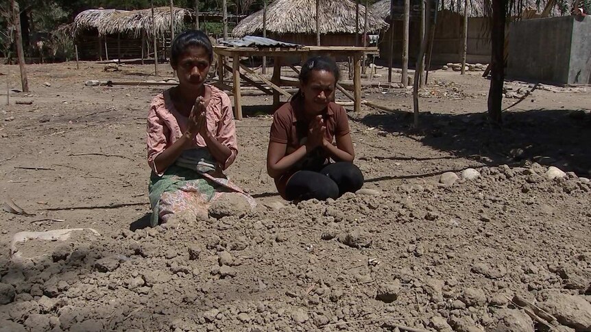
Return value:
M 190 19 L 191 12 L 183 8 L 173 8 L 175 29 L 181 29 L 186 18 Z M 154 23 L 156 34 L 165 34 L 170 29 L 170 8 L 154 8 Z M 152 35 L 152 10 L 85 10 L 74 18 L 73 32 L 85 29 L 97 29 L 99 35 L 130 33 L 135 38 L 141 36 L 142 31 Z

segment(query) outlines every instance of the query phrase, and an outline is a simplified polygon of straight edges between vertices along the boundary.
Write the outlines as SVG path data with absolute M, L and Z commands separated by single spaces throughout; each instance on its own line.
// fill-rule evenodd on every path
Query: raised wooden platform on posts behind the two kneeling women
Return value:
M 281 74 L 281 59 L 284 57 L 293 57 L 300 55 L 302 63 L 306 61 L 311 55 L 346 55 L 354 59 L 354 75 L 353 75 L 353 95 L 346 92 L 339 84 L 337 88 L 341 90 L 347 97 L 354 102 L 354 111 L 357 112 L 361 109 L 361 58 L 364 54 L 378 54 L 377 47 L 339 47 L 339 46 L 303 46 L 303 47 L 225 47 L 216 46 L 213 48 L 215 53 L 219 55 L 219 63 L 225 64 L 225 58 L 232 58 L 232 92 L 234 94 L 234 117 L 237 120 L 242 119 L 242 102 L 240 84 L 241 78 L 248 81 L 250 84 L 257 86 L 263 92 L 268 92 L 268 88 L 263 87 L 269 86 L 273 92 L 273 105 L 278 106 L 280 103 L 280 95 L 283 94 L 285 97 L 291 97 L 291 94 L 280 86 L 282 84 Z M 240 64 L 241 57 L 271 57 L 274 58 L 273 77 L 271 80 L 258 75 L 250 68 Z M 220 75 L 219 83 L 224 84 L 224 68 L 229 66 L 218 66 Z M 298 73 L 298 70 L 289 66 L 293 71 Z M 245 73 L 241 73 L 240 69 Z M 285 77 L 284 77 L 285 78 Z M 346 92 L 346 93 L 345 93 Z

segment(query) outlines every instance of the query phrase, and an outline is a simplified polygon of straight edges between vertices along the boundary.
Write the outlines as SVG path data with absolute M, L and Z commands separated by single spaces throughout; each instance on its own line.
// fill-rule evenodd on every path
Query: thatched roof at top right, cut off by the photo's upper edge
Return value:
M 441 8 L 442 8 L 441 1 L 443 1 L 443 8 L 444 9 L 451 10 L 452 12 L 457 12 L 457 13 L 463 15 L 463 4 L 464 4 L 463 0 L 439 0 L 439 8 L 437 8 L 438 10 L 441 10 Z M 468 17 L 490 16 L 491 2 L 492 2 L 492 0 L 468 0 Z M 507 14 L 510 14 L 511 16 L 514 16 L 517 14 L 522 14 L 523 12 L 526 12 L 528 10 L 533 10 L 533 11 L 537 12 L 538 14 L 540 14 L 542 12 L 542 10 L 544 10 L 544 6 L 546 5 L 546 2 L 548 2 L 548 0 L 523 0 L 523 1 L 514 1 L 514 2 L 515 2 L 514 8 L 510 8 L 510 12 L 507 13 Z M 412 1 L 411 1 L 411 4 L 412 4 Z M 521 4 L 522 8 L 518 8 L 518 4 Z M 389 21 L 390 0 L 378 1 L 370 7 L 370 10 L 374 14 L 376 14 L 376 16 L 379 16 L 379 17 L 385 19 L 386 21 Z M 396 16 L 396 13 L 399 13 L 399 12 L 402 12 L 402 8 L 395 8 L 395 10 L 394 10 L 395 18 L 394 19 L 399 19 L 399 17 Z M 568 13 L 568 10 L 566 10 L 566 8 L 561 9 L 561 8 L 559 8 L 558 5 L 555 5 L 553 10 L 551 11 L 550 16 L 560 16 L 565 13 Z

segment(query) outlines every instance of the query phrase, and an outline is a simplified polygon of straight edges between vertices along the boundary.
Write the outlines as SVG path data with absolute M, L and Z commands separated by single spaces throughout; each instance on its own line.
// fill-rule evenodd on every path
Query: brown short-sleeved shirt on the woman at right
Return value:
M 336 137 L 350 133 L 347 113 L 341 105 L 328 103 L 328 107 L 321 115 L 326 126 L 324 138 L 328 142 L 333 143 Z M 304 115 L 303 100 L 295 98 L 279 107 L 273 115 L 269 140 L 287 144 L 286 154 L 289 155 L 306 144 L 310 122 Z M 306 157 L 293 165 L 291 170 L 275 179 L 276 187 L 281 196 L 285 197 L 285 184 L 287 184 L 287 180 L 293 173 L 298 170 L 319 171 L 324 165 L 328 164 L 328 159 L 328 153 L 321 147 L 308 153 Z

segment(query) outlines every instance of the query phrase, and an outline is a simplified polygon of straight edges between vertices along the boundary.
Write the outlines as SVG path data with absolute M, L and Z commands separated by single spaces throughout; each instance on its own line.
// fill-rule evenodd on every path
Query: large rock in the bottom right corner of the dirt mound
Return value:
M 555 316 L 560 324 L 591 331 L 591 303 L 581 296 L 551 292 L 546 294 L 546 301 L 540 303 L 540 307 Z

